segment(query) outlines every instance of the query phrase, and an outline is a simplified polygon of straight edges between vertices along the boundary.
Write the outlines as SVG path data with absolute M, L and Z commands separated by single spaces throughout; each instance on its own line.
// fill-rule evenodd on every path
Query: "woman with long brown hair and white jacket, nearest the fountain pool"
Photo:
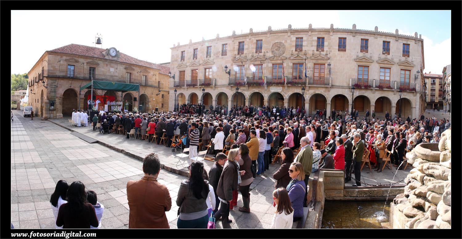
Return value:
M 273 200 L 276 203 L 276 211 L 270 228 L 292 228 L 294 210 L 287 190 L 284 187 L 274 190 Z

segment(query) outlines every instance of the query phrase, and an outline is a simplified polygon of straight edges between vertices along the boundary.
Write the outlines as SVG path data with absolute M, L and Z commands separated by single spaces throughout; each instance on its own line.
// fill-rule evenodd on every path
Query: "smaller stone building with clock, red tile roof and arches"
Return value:
M 91 94 L 91 90 L 80 91 L 80 87 L 91 82 L 91 75 L 94 80 L 140 84 L 140 92 L 123 92 L 123 98 L 121 92 L 105 90 L 93 90 L 93 95 L 128 99 L 133 106 L 143 105 L 143 112 L 168 109 L 168 67 L 140 61 L 120 52 L 111 57 L 105 54 L 107 52 L 108 49 L 76 44 L 46 51 L 28 73 L 32 89 L 29 105 L 34 107 L 36 116 L 62 118 L 70 116 L 73 109 L 86 110 L 87 94 Z M 68 66 L 74 67 L 73 73 L 68 72 Z M 95 69 L 94 73 L 90 73 L 90 67 Z M 127 80 L 127 73 L 131 74 L 130 80 Z M 146 80 L 141 80 L 142 77 Z M 135 97 L 137 101 L 134 101 Z M 50 110 L 49 104 L 53 100 L 55 110 Z

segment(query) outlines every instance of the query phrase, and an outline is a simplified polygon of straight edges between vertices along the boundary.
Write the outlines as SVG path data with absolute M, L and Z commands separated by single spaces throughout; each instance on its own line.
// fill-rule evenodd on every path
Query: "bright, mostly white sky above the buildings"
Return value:
M 424 72 L 441 74 L 451 64 L 450 11 L 12 11 L 11 73 L 27 73 L 47 50 L 71 43 L 95 46 L 153 63 L 170 61 L 173 44 L 253 31 L 315 27 L 395 32 L 424 39 Z M 285 16 L 279 18 L 275 16 Z M 290 16 L 290 17 L 288 17 Z

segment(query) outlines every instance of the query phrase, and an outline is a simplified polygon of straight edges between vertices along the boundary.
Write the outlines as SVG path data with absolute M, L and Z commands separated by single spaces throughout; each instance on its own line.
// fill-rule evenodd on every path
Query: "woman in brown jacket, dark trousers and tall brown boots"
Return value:
M 250 193 L 249 188 L 250 184 L 254 181 L 252 178 L 252 172 L 250 171 L 250 165 L 252 165 L 252 159 L 249 157 L 249 148 L 245 144 L 241 144 L 239 147 L 239 153 L 241 153 L 241 158 L 239 159 L 239 166 L 244 171 L 244 175 L 241 176 L 241 184 L 239 184 L 239 191 L 242 194 L 242 201 L 244 206 L 239 208 L 240 212 L 250 213 Z

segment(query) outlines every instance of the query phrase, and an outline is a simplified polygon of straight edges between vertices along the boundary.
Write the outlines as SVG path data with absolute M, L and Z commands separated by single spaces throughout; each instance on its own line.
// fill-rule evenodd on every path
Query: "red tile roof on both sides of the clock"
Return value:
M 68 54 L 74 54 L 74 55 L 85 55 L 85 56 L 91 56 L 91 57 L 104 59 L 105 57 L 104 57 L 103 51 L 105 50 L 106 49 L 101 49 L 97 47 L 90 47 L 90 46 L 84 46 L 84 45 L 79 45 L 79 44 L 69 44 L 69 45 L 59 47 L 59 48 L 49 50 L 49 51 L 68 53 Z M 152 63 L 149 61 L 138 60 L 122 52 L 120 52 L 119 61 L 124 62 L 124 63 L 158 69 L 160 70 L 161 74 L 165 74 L 165 75 L 168 75 L 170 71 L 170 67 L 165 67 L 163 65 L 159 65 L 159 64 Z

